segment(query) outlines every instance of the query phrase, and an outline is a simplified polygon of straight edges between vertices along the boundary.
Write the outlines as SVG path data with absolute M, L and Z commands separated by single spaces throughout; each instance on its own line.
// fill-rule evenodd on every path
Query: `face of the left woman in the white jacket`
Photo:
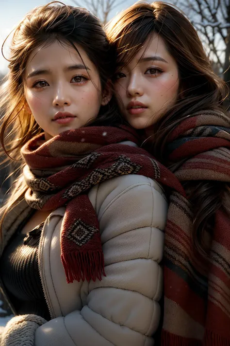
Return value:
M 111 98 L 102 97 L 96 67 L 81 46 L 76 47 L 82 59 L 73 47 L 59 41 L 38 47 L 28 59 L 26 108 L 45 131 L 46 139 L 83 127 Z

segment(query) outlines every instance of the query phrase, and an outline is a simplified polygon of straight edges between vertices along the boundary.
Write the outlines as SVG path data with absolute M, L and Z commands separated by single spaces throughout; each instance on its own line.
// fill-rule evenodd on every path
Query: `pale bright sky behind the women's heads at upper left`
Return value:
M 0 47 L 4 42 L 5 38 L 16 24 L 34 7 L 44 5 L 48 3 L 47 0 L 0 0 Z M 63 0 L 62 2 L 67 5 L 74 5 L 71 0 Z M 79 0 L 82 7 L 84 7 L 84 1 Z M 110 14 L 110 18 L 113 18 L 117 12 L 129 7 L 135 0 L 124 0 L 123 4 L 117 6 L 114 11 Z M 3 49 L 4 55 L 7 57 L 10 37 L 5 44 Z M 7 73 L 8 62 L 3 58 L 0 52 L 0 73 Z

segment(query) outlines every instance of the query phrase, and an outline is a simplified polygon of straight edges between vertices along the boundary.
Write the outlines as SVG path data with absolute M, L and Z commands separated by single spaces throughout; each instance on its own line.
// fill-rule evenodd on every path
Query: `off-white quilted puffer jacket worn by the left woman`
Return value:
M 159 263 L 167 214 L 164 192 L 149 178 L 127 175 L 94 186 L 88 196 L 99 219 L 106 277 L 90 283 L 66 283 L 60 257 L 65 208 L 52 212 L 39 246 L 41 281 L 51 320 L 36 329 L 30 345 L 152 346 L 163 289 Z M 5 220 L 3 247 L 29 212 L 22 201 L 15 216 L 11 213 Z M 26 335 L 26 322 L 12 326 L 19 328 L 17 338 Z

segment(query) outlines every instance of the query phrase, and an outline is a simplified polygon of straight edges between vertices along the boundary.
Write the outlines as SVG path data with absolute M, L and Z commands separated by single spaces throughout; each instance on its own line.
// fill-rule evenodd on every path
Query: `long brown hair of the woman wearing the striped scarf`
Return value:
M 116 72 L 127 66 L 143 45 L 160 35 L 179 70 L 179 93 L 173 106 L 164 109 L 154 124 L 154 134 L 148 139 L 148 150 L 171 171 L 182 162 L 168 161 L 166 144 L 172 131 L 183 119 L 204 109 L 222 110 L 229 89 L 212 69 L 197 32 L 188 18 L 175 6 L 157 1 L 141 1 L 118 14 L 107 26 L 107 36 L 116 50 Z M 143 55 L 145 52 L 143 53 Z M 229 116 L 229 115 L 228 115 Z M 230 200 L 229 188 L 224 182 L 181 182 L 194 206 L 192 240 L 197 250 L 205 254 L 202 246 L 204 230 L 212 232 L 214 213 Z M 229 210 L 226 210 L 229 213 Z

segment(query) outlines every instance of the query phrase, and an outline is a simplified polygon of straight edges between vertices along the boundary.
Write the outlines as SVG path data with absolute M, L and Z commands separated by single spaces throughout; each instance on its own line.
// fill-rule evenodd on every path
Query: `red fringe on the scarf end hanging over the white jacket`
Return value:
M 104 271 L 104 256 L 101 251 L 75 251 L 61 255 L 67 283 L 74 280 L 101 280 Z

